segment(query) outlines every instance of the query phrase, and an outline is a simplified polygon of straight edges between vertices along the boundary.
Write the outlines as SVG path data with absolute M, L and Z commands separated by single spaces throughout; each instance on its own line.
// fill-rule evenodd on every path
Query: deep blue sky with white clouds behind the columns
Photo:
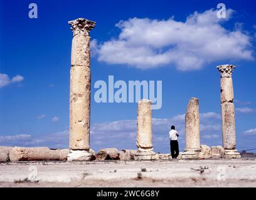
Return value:
M 28 17 L 29 3 L 38 18 Z M 216 17 L 225 3 L 227 18 Z M 0 145 L 68 148 L 72 31 L 96 21 L 92 40 L 91 148 L 136 149 L 136 103 L 95 103 L 98 80 L 163 81 L 153 144 L 168 153 L 191 97 L 200 99 L 201 144 L 221 145 L 220 74 L 234 64 L 237 149 L 256 148 L 254 1 L 0 1 Z M 119 54 L 121 53 L 121 54 Z

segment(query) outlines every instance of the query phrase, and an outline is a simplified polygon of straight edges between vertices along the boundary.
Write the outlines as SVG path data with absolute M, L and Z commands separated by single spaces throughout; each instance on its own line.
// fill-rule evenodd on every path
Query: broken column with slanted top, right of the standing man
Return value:
M 189 100 L 186 116 L 186 148 L 182 154 L 183 159 L 199 158 L 200 148 L 200 119 L 199 119 L 199 101 L 197 98 Z

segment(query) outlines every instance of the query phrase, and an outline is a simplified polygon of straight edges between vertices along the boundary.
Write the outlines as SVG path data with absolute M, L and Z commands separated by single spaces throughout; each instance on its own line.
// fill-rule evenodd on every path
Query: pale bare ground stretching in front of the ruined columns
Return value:
M 1 163 L 0 187 L 256 187 L 256 160 Z

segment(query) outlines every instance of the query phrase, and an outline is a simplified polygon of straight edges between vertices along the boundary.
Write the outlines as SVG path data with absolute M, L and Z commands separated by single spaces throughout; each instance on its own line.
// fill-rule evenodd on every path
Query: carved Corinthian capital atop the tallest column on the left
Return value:
M 68 24 L 72 26 L 70 29 L 73 31 L 73 36 L 77 34 L 89 36 L 90 30 L 95 27 L 96 22 L 84 18 L 78 18 L 73 21 L 69 21 Z

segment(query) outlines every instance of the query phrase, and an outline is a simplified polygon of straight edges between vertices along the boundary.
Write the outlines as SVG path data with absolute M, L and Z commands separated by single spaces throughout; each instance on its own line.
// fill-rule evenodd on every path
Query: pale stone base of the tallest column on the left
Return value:
M 68 162 L 72 161 L 92 161 L 93 155 L 89 150 L 70 150 Z

